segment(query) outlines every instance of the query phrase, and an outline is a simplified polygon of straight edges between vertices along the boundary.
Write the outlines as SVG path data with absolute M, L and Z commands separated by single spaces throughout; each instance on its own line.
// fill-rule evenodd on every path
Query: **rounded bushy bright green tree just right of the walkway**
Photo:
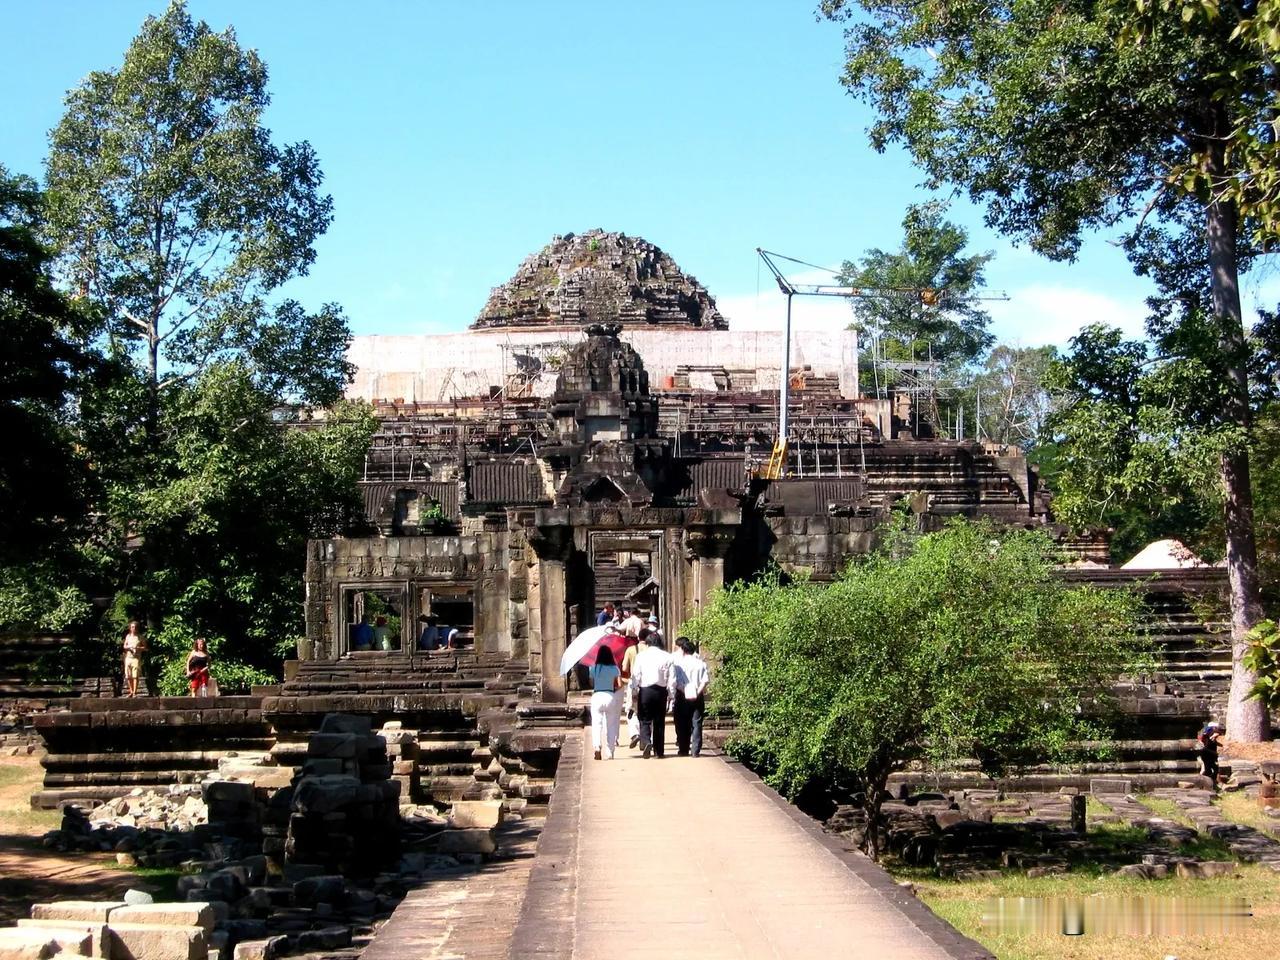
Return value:
M 735 749 L 790 795 L 813 782 L 881 804 L 913 762 L 989 774 L 1102 739 L 1112 686 L 1148 663 L 1135 598 L 1070 588 L 1051 541 L 963 520 L 887 547 L 829 586 L 765 579 L 714 595 L 686 630 L 721 662 L 712 699 Z

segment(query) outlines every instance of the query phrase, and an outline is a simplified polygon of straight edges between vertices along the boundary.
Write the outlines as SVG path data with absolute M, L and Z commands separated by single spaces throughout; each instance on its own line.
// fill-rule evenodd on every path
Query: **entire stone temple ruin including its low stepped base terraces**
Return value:
M 330 713 L 416 731 L 397 760 L 416 800 L 544 803 L 579 709 L 559 657 L 604 602 L 675 637 L 712 591 L 769 564 L 833 577 L 901 504 L 923 529 L 1041 527 L 1079 562 L 1065 576 L 1142 584 L 1166 663 L 1124 680 L 1106 768 L 1157 786 L 1190 774 L 1189 737 L 1230 676 L 1201 603 L 1221 571 L 1108 568 L 1105 538 L 1053 524 L 1019 449 L 923 436 L 909 397 L 861 397 L 849 330 L 796 338 L 788 460 L 763 479 L 782 334 L 726 326 L 657 247 L 590 232 L 526 260 L 466 333 L 356 338 L 351 393 L 380 420 L 360 484 L 367 535 L 308 544 L 306 636 L 283 684 L 216 707 L 69 700 L 37 718 L 38 803 L 189 781 L 228 751 L 298 768 Z M 420 649 L 426 623 L 457 631 L 456 649 Z M 1044 786 L 1089 776 L 1033 772 Z

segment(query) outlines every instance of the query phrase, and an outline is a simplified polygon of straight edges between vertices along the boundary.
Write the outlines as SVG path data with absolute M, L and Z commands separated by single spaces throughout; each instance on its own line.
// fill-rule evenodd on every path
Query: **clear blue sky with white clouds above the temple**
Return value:
M 306 303 L 335 301 L 357 334 L 465 328 L 554 234 L 641 236 L 701 280 L 731 325 L 781 324 L 755 247 L 838 264 L 895 247 L 927 198 L 900 154 L 867 146 L 838 83 L 838 24 L 815 0 L 335 3 L 192 0 L 262 55 L 276 142 L 308 140 L 335 220 Z M 41 172 L 61 99 L 120 63 L 163 0 L 13 3 L 0 58 L 0 163 Z M 18 38 L 19 42 L 14 42 Z M 997 253 L 993 330 L 1065 343 L 1082 324 L 1140 329 L 1146 285 L 1091 241 L 1075 264 L 1012 250 L 964 202 L 954 218 Z M 758 293 L 759 291 L 759 293 Z M 801 326 L 847 320 L 797 301 Z

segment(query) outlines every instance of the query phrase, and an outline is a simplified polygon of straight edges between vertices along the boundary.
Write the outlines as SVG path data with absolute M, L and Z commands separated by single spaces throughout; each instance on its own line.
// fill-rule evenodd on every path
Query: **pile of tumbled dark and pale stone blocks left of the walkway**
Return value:
M 355 955 L 410 888 L 492 856 L 495 829 L 511 815 L 498 800 L 460 800 L 448 815 L 399 804 L 401 783 L 390 776 L 403 744 L 388 756 L 387 733 L 396 739 L 394 730 L 374 733 L 367 718 L 333 714 L 288 781 L 291 768 L 229 758 L 221 772 L 242 780 L 140 788 L 88 814 L 67 806 L 61 827 L 45 837 L 47 847 L 114 851 L 123 865 L 182 870 L 182 902 L 152 909 L 168 918 L 159 927 L 174 929 L 134 931 L 133 914 L 120 913 L 124 904 L 44 905 L 20 933 L 5 936 L 15 950 L 19 940 L 23 950 L 47 940 L 29 954 L 8 954 L 9 941 L 0 940 L 0 957 L 47 956 L 52 942 L 68 956 Z M 120 933 L 113 933 L 118 922 Z M 164 942 L 161 952 L 137 952 L 148 937 Z

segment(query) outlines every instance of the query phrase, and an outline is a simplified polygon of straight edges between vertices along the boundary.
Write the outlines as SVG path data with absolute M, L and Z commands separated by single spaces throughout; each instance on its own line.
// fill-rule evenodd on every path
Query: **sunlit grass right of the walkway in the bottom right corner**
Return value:
M 1105 847 L 1123 849 L 1144 840 L 1142 831 L 1105 824 L 1091 828 L 1089 838 Z M 1225 845 L 1201 838 L 1183 847 L 1202 859 L 1231 859 Z M 1005 870 L 998 878 L 959 881 L 937 877 L 932 869 L 884 864 L 899 879 L 915 883 L 920 899 L 961 933 L 984 945 L 1001 960 L 1276 960 L 1280 956 L 1280 874 L 1242 864 L 1239 876 L 1219 879 L 1143 881 L 1116 877 L 1089 864 L 1070 873 L 1028 878 Z M 1088 934 L 1001 933 L 983 925 L 987 902 L 995 897 L 1243 897 L 1253 916 L 1235 936 L 1132 937 Z

